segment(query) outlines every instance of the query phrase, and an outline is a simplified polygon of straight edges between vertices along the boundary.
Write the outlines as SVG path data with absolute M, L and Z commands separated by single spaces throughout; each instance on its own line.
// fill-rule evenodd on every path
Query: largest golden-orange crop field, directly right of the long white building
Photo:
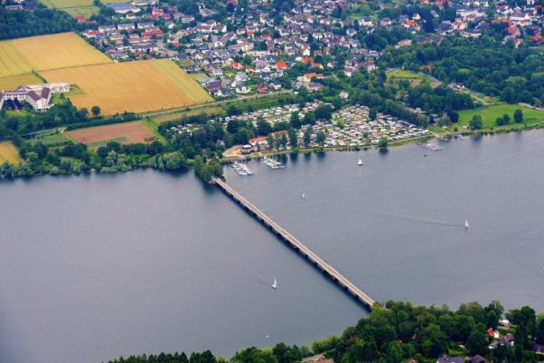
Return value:
M 211 97 L 169 60 L 98 64 L 40 73 L 49 82 L 76 84 L 78 108 L 98 105 L 102 114 L 142 113 L 211 101 Z

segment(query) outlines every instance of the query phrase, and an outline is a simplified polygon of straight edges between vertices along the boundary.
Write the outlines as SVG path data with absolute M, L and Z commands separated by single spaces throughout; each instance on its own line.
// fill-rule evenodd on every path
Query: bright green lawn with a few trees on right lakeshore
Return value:
M 473 108 L 471 110 L 462 110 L 459 113 L 458 125 L 468 126 L 469 123 L 471 123 L 472 116 L 475 114 L 479 114 L 481 115 L 484 129 L 491 129 L 491 127 L 494 129 L 509 129 L 512 127 L 512 125 L 516 124 L 513 122 L 513 119 L 514 112 L 517 109 L 520 109 L 523 112 L 523 123 L 521 125 L 527 123 L 527 125 L 530 126 L 536 123 L 544 123 L 544 111 L 534 110 L 529 107 L 520 106 L 518 104 L 500 103 L 481 108 Z M 510 116 L 510 123 L 504 126 L 497 127 L 497 125 L 495 124 L 495 120 L 497 120 L 498 117 L 502 117 L 504 113 Z

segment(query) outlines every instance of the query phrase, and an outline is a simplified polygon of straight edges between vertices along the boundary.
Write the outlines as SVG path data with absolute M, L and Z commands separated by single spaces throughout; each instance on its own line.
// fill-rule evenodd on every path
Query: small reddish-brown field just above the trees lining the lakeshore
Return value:
M 109 141 L 122 143 L 151 142 L 157 139 L 140 121 L 131 123 L 114 123 L 104 126 L 89 127 L 68 132 L 71 138 L 77 142 L 83 142 L 94 146 Z

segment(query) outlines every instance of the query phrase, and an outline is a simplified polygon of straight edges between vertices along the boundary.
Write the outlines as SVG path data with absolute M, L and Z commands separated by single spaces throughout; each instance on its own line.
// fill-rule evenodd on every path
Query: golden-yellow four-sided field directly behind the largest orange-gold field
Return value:
M 36 71 L 112 63 L 110 58 L 75 33 L 40 35 L 11 42 L 33 64 Z

